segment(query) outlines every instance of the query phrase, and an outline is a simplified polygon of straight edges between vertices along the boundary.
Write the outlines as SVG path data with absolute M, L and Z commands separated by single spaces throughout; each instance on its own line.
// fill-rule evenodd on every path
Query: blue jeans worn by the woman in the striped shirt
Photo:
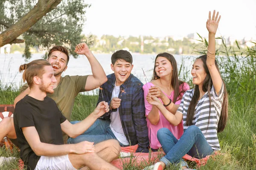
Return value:
M 177 140 L 167 128 L 161 128 L 157 132 L 157 139 L 163 147 L 166 156 L 160 159 L 168 167 L 181 161 L 182 166 L 187 166 L 182 157 L 185 154 L 194 158 L 204 158 L 213 153 L 202 131 L 195 125 L 189 126 L 180 140 Z

